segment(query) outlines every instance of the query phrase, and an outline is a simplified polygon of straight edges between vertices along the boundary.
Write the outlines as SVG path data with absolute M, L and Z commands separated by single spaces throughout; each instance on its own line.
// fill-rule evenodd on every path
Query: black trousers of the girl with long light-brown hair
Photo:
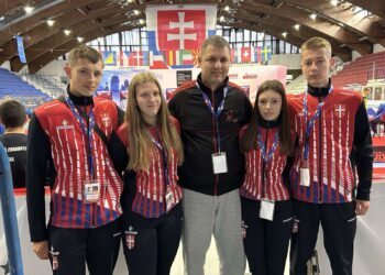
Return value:
M 182 204 L 160 218 L 144 218 L 132 211 L 122 217 L 122 241 L 130 275 L 168 275 L 178 251 Z

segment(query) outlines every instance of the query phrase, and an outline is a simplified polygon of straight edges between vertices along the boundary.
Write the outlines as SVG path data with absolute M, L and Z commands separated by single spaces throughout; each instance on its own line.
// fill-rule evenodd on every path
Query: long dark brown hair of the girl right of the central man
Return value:
M 241 152 L 246 153 L 249 150 L 257 147 L 257 132 L 258 132 L 260 121 L 262 119 L 262 116 L 260 113 L 260 108 L 258 108 L 258 98 L 262 95 L 262 92 L 266 90 L 274 90 L 280 95 L 282 108 L 278 117 L 278 119 L 280 119 L 279 129 L 278 129 L 279 152 L 285 155 L 292 155 L 293 141 L 290 136 L 290 123 L 289 123 L 287 100 L 285 96 L 285 88 L 282 85 L 282 82 L 278 80 L 266 80 L 263 84 L 261 84 L 256 92 L 252 118 L 250 120 L 248 130 L 241 142 Z

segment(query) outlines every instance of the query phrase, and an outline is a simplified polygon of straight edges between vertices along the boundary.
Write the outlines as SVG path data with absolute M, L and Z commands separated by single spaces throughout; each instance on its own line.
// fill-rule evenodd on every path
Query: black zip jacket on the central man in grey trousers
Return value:
M 200 88 L 197 87 L 197 81 Z M 251 102 L 241 88 L 228 79 L 215 92 L 202 82 L 189 81 L 177 89 L 168 102 L 179 121 L 185 162 L 178 169 L 179 185 L 206 195 L 222 195 L 240 187 L 244 178 L 244 157 L 239 151 L 239 131 L 250 121 Z M 218 152 L 215 117 L 205 103 L 206 92 L 217 110 L 229 91 L 219 117 L 221 152 L 226 152 L 228 173 L 213 174 L 211 154 Z

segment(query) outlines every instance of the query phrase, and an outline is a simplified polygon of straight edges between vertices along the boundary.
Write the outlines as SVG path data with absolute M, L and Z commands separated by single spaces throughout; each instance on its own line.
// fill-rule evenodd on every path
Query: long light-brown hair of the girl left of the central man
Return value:
M 157 127 L 160 128 L 160 135 L 162 145 L 165 147 L 167 155 L 172 155 L 173 150 L 178 156 L 178 164 L 184 160 L 183 145 L 175 129 L 170 122 L 170 116 L 167 109 L 166 101 L 162 95 L 162 88 L 158 80 L 151 73 L 140 73 L 135 75 L 129 87 L 129 102 L 127 105 L 125 121 L 129 125 L 128 151 L 130 155 L 129 169 L 148 170 L 151 152 L 155 150 L 154 143 L 150 138 L 147 131 L 148 125 L 144 122 L 139 107 L 136 106 L 136 88 L 145 82 L 153 82 L 157 86 L 161 92 L 161 108 L 157 113 Z

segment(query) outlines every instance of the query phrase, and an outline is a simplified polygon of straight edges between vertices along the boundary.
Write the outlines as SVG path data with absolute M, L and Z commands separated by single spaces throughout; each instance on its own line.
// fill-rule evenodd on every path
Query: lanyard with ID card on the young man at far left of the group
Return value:
M 84 180 L 82 183 L 82 199 L 86 204 L 94 204 L 98 202 L 100 199 L 100 180 L 98 180 L 95 177 L 95 162 L 94 162 L 94 136 L 92 131 L 95 127 L 95 113 L 94 108 L 91 108 L 91 111 L 89 116 L 87 117 L 85 113 L 84 116 L 80 114 L 79 110 L 74 105 L 73 100 L 70 100 L 69 97 L 66 97 L 66 103 L 69 107 L 70 111 L 75 116 L 77 122 L 80 125 L 82 134 L 87 138 L 88 141 L 86 153 L 88 158 L 88 165 L 89 165 L 89 174 L 90 178 Z M 87 120 L 87 125 L 85 124 L 84 120 Z

